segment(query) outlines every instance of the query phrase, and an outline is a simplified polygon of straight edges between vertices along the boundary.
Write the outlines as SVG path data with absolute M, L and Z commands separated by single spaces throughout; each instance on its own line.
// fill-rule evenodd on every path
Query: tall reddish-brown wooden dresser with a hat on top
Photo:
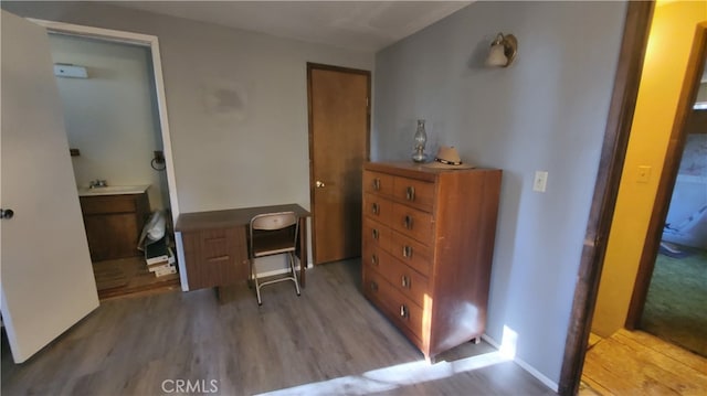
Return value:
M 363 295 L 429 361 L 485 331 L 500 176 L 363 167 Z

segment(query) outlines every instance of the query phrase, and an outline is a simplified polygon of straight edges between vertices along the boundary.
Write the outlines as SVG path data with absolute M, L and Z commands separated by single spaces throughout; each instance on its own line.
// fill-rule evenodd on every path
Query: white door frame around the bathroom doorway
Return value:
M 162 76 L 162 61 L 159 54 L 159 41 L 156 35 L 133 33 L 120 30 L 86 26 L 65 22 L 48 21 L 34 18 L 27 18 L 28 21 L 46 29 L 48 33 L 73 35 L 78 38 L 96 39 L 114 43 L 123 43 L 148 47 L 152 60 L 152 78 L 155 79 L 155 90 L 157 97 L 157 109 L 159 114 L 159 126 L 162 137 L 162 150 L 165 153 L 165 171 L 167 172 L 167 188 L 169 193 L 169 205 L 171 208 L 172 224 L 177 224 L 179 217 L 179 199 L 177 197 L 177 180 L 175 178 L 175 161 L 172 154 L 172 143 L 169 131 L 169 119 L 167 116 L 167 96 L 165 94 L 165 79 Z M 179 245 L 179 242 L 178 242 Z M 181 251 L 177 247 L 178 254 Z M 187 270 L 183 258 L 178 260 L 179 276 L 182 290 L 187 290 Z

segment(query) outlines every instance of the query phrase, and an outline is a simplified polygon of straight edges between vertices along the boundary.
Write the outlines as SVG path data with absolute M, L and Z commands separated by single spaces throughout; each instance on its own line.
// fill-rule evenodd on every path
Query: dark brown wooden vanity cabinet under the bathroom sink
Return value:
M 138 238 L 149 216 L 147 193 L 80 196 L 93 261 L 138 256 Z

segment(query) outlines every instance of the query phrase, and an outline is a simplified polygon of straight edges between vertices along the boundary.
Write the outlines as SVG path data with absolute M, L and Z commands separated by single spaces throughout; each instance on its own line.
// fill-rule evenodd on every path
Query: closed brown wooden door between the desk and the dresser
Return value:
M 307 64 L 314 263 L 361 254 L 370 72 Z

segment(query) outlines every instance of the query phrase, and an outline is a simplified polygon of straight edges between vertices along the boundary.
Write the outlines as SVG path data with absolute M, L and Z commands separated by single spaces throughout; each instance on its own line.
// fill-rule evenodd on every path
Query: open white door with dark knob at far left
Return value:
M 98 307 L 98 295 L 46 30 L 2 11 L 1 40 L 0 292 L 21 363 Z

